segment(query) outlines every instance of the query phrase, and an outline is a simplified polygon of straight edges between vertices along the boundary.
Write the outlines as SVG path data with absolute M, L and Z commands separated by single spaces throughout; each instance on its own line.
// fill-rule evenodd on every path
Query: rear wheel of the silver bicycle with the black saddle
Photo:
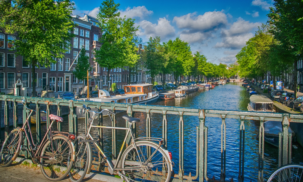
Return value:
M 157 150 L 158 146 L 150 142 L 137 141 L 136 145 L 139 155 L 132 145 L 122 154 L 121 168 L 125 169 L 122 174 L 135 181 L 168 182 L 171 166 L 165 152 L 161 148 Z

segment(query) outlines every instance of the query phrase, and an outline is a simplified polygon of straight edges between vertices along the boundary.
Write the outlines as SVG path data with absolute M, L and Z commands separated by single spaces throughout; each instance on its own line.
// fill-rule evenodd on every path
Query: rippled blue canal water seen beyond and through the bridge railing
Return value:
M 224 86 L 216 86 L 210 90 L 198 90 L 195 93 L 190 93 L 186 97 L 175 98 L 171 100 L 158 101 L 153 105 L 159 106 L 178 106 L 191 107 L 202 109 L 215 110 L 245 110 L 249 103 L 249 94 L 246 89 L 241 86 L 242 83 L 228 83 Z M 117 126 L 125 127 L 125 120 L 122 116 L 126 113 L 117 114 Z M 137 137 L 146 136 L 146 113 L 135 113 L 135 117 L 141 119 L 137 123 Z M 151 113 L 151 135 L 152 137 L 162 137 L 162 120 L 163 116 L 158 113 Z M 175 174 L 178 174 L 179 167 L 179 116 L 167 115 L 168 120 L 168 150 L 172 152 L 173 167 Z M 66 121 L 66 122 L 65 122 Z M 68 116 L 64 117 L 63 131 L 68 131 Z M 207 174 L 208 178 L 215 176 L 216 180 L 220 179 L 221 173 L 221 118 L 206 117 L 205 126 L 208 127 L 208 157 L 207 157 Z M 231 177 L 237 181 L 239 171 L 239 138 L 240 138 L 240 120 L 226 119 L 226 180 L 229 181 Z M 97 124 L 97 122 L 95 122 Z M 109 117 L 104 117 L 104 126 L 111 126 Z M 188 175 L 191 172 L 192 176 L 196 175 L 196 126 L 199 125 L 197 116 L 184 116 L 184 174 Z M 245 181 L 257 181 L 258 177 L 258 134 L 260 122 L 245 120 Z M 46 126 L 42 125 L 43 131 Z M 78 120 L 79 133 L 85 132 L 85 121 Z M 32 128 L 35 132 L 35 128 Z M 92 134 L 97 138 L 98 131 L 93 130 Z M 3 132 L 2 132 L 3 133 Z M 112 130 L 103 130 L 104 151 L 108 156 L 112 152 Z M 123 139 L 125 137 L 125 130 L 117 131 L 117 151 L 119 151 Z M 303 162 L 302 148 L 292 150 L 292 163 Z M 94 156 L 98 156 L 97 150 L 94 150 Z M 265 143 L 264 150 L 264 178 L 267 179 L 269 175 L 278 167 L 278 148 Z

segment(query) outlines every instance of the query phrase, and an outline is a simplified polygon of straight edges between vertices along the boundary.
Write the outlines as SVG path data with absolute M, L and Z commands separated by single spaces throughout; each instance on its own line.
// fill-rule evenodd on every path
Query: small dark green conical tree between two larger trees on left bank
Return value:
M 78 62 L 75 66 L 75 69 L 73 70 L 73 75 L 77 78 L 77 79 L 81 79 L 84 80 L 83 81 L 83 91 L 84 91 L 84 83 L 85 83 L 85 79 L 84 77 L 87 76 L 87 71 L 91 71 L 92 67 L 89 64 L 89 57 L 85 55 L 85 49 L 81 49 L 81 52 L 79 54 L 79 58 L 78 58 Z M 87 88 L 88 91 L 88 88 Z

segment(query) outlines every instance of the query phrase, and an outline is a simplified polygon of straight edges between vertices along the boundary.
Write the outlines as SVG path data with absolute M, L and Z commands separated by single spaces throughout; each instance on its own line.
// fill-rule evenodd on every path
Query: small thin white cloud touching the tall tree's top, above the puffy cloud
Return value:
M 140 17 L 143 18 L 147 15 L 152 15 L 154 12 L 153 11 L 149 11 L 145 6 L 137 6 L 137 7 L 133 7 L 133 8 L 126 8 L 125 11 L 120 11 L 120 16 L 124 17 L 126 16 L 126 18 L 134 18 L 134 17 Z

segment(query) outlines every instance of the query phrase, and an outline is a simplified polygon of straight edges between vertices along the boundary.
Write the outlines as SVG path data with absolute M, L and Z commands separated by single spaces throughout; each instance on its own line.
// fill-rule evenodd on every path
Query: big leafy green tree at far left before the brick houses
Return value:
M 33 96 L 36 96 L 35 66 L 50 66 L 55 58 L 63 58 L 64 48 L 74 36 L 72 5 L 69 0 L 12 0 L 1 1 L 0 28 L 20 39 L 9 42 L 17 55 L 25 56 L 32 64 Z M 3 11 L 5 10 L 5 11 Z

